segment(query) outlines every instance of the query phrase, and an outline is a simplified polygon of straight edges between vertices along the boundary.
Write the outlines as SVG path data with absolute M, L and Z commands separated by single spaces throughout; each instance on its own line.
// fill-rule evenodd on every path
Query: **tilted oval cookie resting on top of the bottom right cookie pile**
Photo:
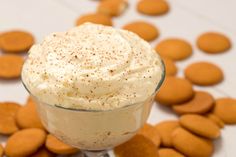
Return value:
M 180 125 L 196 135 L 216 139 L 220 136 L 219 127 L 204 116 L 186 114 L 180 117 Z

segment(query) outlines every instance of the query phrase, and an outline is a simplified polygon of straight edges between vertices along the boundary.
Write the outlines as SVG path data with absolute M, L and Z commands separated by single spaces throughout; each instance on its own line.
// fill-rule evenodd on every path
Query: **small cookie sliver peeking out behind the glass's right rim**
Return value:
M 175 76 L 178 72 L 177 66 L 175 65 L 174 61 L 169 58 L 162 58 L 165 68 L 166 68 L 166 75 L 167 76 Z

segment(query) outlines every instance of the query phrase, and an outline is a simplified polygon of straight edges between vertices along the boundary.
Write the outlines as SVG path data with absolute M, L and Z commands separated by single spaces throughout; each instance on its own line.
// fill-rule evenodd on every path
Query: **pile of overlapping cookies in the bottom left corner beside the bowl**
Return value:
M 53 157 L 79 151 L 46 131 L 31 98 L 24 106 L 13 102 L 0 104 L 0 134 L 9 137 L 4 150 L 0 145 L 0 156 Z

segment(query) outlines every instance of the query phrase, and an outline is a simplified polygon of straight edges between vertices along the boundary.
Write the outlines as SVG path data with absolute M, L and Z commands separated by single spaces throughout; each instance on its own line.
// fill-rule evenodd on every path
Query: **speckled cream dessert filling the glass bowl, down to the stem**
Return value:
M 53 33 L 29 53 L 22 81 L 43 125 L 80 150 L 106 150 L 132 138 L 164 77 L 147 42 L 108 26 Z

